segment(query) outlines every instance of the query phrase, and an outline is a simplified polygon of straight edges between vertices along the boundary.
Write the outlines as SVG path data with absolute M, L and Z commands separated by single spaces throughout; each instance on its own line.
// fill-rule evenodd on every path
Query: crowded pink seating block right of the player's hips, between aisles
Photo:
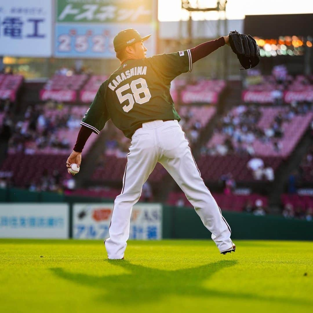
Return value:
M 296 116 L 305 119 L 308 115 L 312 115 L 312 105 L 306 102 L 274 108 L 240 105 L 221 118 L 212 139 L 202 147 L 201 152 L 203 155 L 235 153 L 254 156 L 262 154 L 256 144 L 259 141 L 266 145 L 269 153 L 274 151 L 274 155 L 280 155 L 285 141 L 289 139 L 284 136 L 288 127 L 298 124 Z M 307 124 L 309 122 L 306 121 Z

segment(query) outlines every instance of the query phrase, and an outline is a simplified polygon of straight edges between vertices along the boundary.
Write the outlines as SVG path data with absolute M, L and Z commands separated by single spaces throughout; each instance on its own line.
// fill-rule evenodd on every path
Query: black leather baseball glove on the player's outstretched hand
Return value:
M 259 64 L 260 49 L 253 37 L 240 34 L 235 30 L 229 33 L 229 44 L 244 69 Z

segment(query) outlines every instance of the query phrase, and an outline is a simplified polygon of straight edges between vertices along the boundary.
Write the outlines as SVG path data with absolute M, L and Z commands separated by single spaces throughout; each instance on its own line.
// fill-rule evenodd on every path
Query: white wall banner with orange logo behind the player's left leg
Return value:
M 106 239 L 113 203 L 74 204 L 73 238 Z M 129 239 L 162 239 L 162 205 L 140 203 L 133 207 Z

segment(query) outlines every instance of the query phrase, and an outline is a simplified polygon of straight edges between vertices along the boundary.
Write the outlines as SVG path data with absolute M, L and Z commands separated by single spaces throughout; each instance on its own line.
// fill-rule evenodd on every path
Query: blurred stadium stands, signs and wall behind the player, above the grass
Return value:
M 277 2 L 279 13 L 290 3 Z M 303 13 L 234 19 L 231 0 L 1 0 L 0 237 L 108 237 L 130 140 L 109 121 L 87 142 L 78 175 L 65 162 L 98 87 L 119 66 L 115 34 L 133 27 L 153 34 L 148 56 L 234 29 L 254 36 L 256 68 L 239 71 L 224 47 L 177 77 L 171 95 L 232 238 L 313 239 L 310 3 Z M 160 164 L 131 225 L 131 239 L 209 238 Z

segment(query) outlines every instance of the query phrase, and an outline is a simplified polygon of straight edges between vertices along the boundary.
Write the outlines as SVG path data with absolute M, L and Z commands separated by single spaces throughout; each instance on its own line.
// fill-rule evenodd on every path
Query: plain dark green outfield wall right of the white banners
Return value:
M 313 222 L 223 211 L 232 239 L 313 240 Z M 192 208 L 163 206 L 163 238 L 211 238 Z

